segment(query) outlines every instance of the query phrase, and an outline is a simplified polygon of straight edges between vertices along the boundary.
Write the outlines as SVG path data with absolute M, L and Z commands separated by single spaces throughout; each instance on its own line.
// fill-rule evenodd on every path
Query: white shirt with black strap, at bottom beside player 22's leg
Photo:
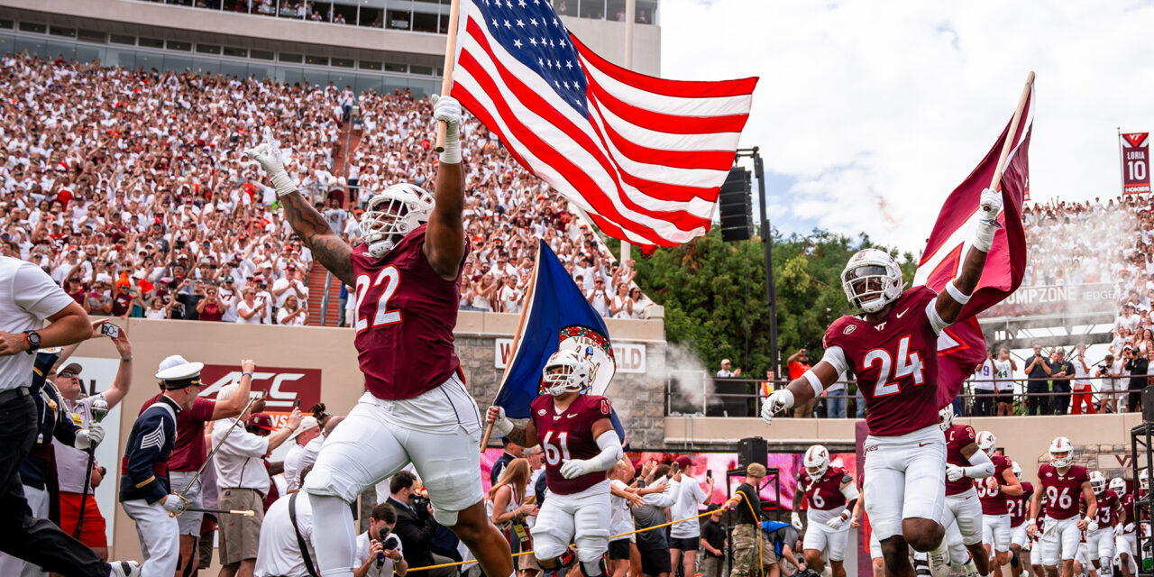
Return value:
M 294 493 L 297 494 L 297 493 Z M 261 524 L 260 548 L 256 550 L 256 577 L 308 577 L 305 557 L 297 544 L 297 531 L 288 517 L 288 501 L 292 495 L 278 499 L 264 514 Z M 297 527 L 308 546 L 308 553 L 316 567 L 316 552 L 313 548 L 313 507 L 308 495 L 295 500 Z

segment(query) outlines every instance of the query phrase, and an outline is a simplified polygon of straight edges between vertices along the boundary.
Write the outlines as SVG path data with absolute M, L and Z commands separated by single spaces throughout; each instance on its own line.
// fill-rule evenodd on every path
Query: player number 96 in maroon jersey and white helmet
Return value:
M 1034 493 L 1029 503 L 1029 526 L 1026 532 L 1034 535 L 1037 530 L 1037 515 L 1042 505 L 1042 494 L 1046 494 L 1044 532 L 1042 533 L 1042 567 L 1050 577 L 1058 574 L 1058 559 L 1062 559 L 1062 577 L 1070 577 L 1074 570 L 1074 555 L 1081 532 L 1089 526 L 1097 515 L 1097 497 L 1089 486 L 1089 473 L 1086 467 L 1073 464 L 1074 445 L 1069 439 L 1059 436 L 1050 443 L 1050 462 L 1037 467 L 1037 480 L 1042 490 Z M 1086 499 L 1086 516 L 1078 516 L 1078 494 Z

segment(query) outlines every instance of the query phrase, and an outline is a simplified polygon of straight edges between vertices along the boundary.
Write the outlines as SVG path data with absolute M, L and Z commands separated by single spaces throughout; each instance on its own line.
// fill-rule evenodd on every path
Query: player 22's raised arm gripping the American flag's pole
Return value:
M 425 232 L 425 258 L 442 278 L 452 280 L 465 257 L 465 177 L 460 165 L 460 103 L 451 96 L 433 96 L 433 118 L 445 123 L 444 150 L 436 170 L 436 203 Z M 352 283 L 350 283 L 352 284 Z

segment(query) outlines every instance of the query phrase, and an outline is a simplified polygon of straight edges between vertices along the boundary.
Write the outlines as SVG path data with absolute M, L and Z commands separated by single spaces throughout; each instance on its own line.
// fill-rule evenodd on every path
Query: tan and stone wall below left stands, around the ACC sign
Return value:
M 133 344 L 133 387 L 118 409 L 119 444 L 115 464 L 123 456 L 123 441 L 143 403 L 157 394 L 156 367 L 170 354 L 208 365 L 237 366 L 242 359 L 253 359 L 257 373 L 262 367 L 320 370 L 320 398 L 335 414 L 345 414 L 364 392 L 364 376 L 357 365 L 353 331 L 350 329 L 317 327 L 269 327 L 209 323 L 195 321 L 148 321 L 132 319 L 117 321 Z M 650 373 L 664 373 L 665 342 L 661 321 L 608 320 L 614 342 L 644 344 Z M 496 394 L 500 370 L 495 368 L 497 338 L 511 337 L 517 316 L 508 314 L 462 312 L 457 327 L 457 353 L 460 355 L 470 391 L 481 407 L 488 406 Z M 74 358 L 117 359 L 117 353 L 104 339 L 85 342 Z M 90 377 L 95 361 L 89 361 Z M 119 365 L 115 365 L 119 366 Z M 113 369 L 114 370 L 114 369 Z M 647 379 L 646 374 L 621 374 L 614 379 L 607 395 L 620 398 L 619 413 L 627 434 L 635 445 L 660 447 L 664 443 L 665 383 Z M 205 383 L 211 384 L 211 383 Z M 269 382 L 257 381 L 257 389 Z M 103 389 L 103 387 L 102 387 Z M 307 404 L 304 405 L 306 409 Z M 112 417 L 110 417 L 111 419 Z M 111 428 L 108 419 L 105 427 Z M 110 455 L 111 457 L 111 455 Z M 108 471 L 118 471 L 111 458 L 102 463 Z M 105 479 L 119 486 L 119 474 Z M 132 520 L 117 507 L 103 511 L 115 515 L 112 554 L 115 559 L 140 559 L 140 546 Z M 110 515 L 111 514 L 111 515 Z

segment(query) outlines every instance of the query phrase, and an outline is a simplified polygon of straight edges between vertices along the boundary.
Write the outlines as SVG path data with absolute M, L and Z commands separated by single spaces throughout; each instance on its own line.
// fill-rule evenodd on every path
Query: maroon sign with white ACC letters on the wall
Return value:
M 201 396 L 216 397 L 220 388 L 240 382 L 240 367 L 235 365 L 205 365 L 201 370 L 201 382 L 208 384 Z M 253 392 L 268 391 L 267 411 L 292 411 L 293 402 L 300 399 L 307 410 L 321 402 L 321 369 L 257 367 L 253 372 Z

